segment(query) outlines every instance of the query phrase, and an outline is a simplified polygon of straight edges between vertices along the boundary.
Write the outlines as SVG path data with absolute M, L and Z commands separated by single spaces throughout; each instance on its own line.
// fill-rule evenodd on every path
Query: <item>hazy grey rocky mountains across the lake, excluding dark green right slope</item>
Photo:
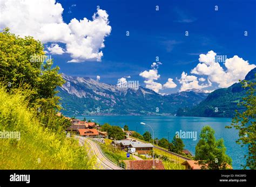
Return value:
M 170 95 L 138 87 L 119 88 L 89 77 L 62 74 L 66 83 L 59 87 L 58 96 L 68 116 L 75 115 L 174 115 L 181 107 L 192 107 L 208 93 L 192 89 Z

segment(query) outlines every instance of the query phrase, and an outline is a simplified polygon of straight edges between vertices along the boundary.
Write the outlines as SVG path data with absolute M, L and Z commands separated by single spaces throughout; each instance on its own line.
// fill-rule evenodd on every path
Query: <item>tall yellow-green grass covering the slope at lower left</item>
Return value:
M 50 123 L 50 122 L 48 122 Z M 0 132 L 18 131 L 21 139 L 0 139 L 0 169 L 93 169 L 77 140 L 44 127 L 21 93 L 0 87 Z

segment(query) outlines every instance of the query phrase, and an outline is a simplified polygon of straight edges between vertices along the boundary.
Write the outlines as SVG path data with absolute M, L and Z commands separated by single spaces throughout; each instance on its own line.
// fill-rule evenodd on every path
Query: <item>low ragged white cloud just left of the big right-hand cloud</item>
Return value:
M 190 90 L 190 89 L 202 90 L 203 88 L 212 86 L 212 82 L 210 80 L 208 80 L 208 84 L 199 84 L 196 76 L 187 75 L 184 71 L 181 74 L 181 77 L 178 81 L 181 84 L 179 91 L 185 91 L 185 90 Z

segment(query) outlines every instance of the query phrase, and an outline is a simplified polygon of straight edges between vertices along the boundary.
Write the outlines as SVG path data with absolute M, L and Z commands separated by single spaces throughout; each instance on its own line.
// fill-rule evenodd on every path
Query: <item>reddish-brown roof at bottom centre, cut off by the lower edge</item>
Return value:
M 163 170 L 164 164 L 161 160 L 124 160 L 125 169 L 151 170 L 153 166 L 157 170 Z

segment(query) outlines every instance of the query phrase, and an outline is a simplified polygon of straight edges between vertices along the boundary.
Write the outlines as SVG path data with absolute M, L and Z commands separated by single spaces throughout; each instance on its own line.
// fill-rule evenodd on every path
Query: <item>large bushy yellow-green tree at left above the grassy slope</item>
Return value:
M 22 86 L 30 92 L 30 105 L 38 113 L 60 109 L 56 88 L 65 81 L 52 64 L 40 41 L 11 34 L 9 28 L 0 33 L 0 81 L 9 91 Z

